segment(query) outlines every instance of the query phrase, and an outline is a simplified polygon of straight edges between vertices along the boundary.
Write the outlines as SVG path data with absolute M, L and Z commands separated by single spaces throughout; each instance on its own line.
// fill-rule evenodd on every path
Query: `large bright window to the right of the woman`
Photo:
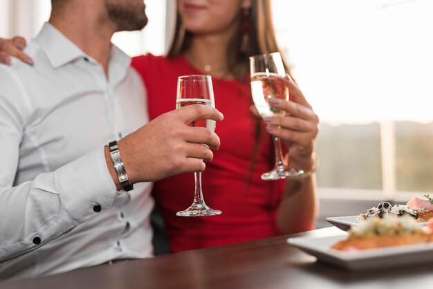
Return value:
M 321 120 L 321 191 L 433 191 L 432 10 L 429 0 L 273 0 L 279 46 Z

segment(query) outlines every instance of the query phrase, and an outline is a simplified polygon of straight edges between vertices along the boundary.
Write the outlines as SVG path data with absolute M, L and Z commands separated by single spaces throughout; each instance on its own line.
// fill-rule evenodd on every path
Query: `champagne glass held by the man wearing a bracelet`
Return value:
M 183 75 L 178 77 L 176 109 L 192 104 L 203 104 L 215 107 L 214 90 L 210 75 Z M 194 120 L 190 127 L 207 127 L 215 130 L 214 120 Z M 194 173 L 194 201 L 187 209 L 177 212 L 177 216 L 214 216 L 221 214 L 217 209 L 211 209 L 203 200 L 201 189 L 201 172 Z

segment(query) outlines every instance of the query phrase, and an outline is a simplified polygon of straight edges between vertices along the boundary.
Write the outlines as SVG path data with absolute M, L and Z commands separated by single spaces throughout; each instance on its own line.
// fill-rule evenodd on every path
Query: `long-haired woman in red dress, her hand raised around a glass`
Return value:
M 150 118 L 176 106 L 179 75 L 212 75 L 216 108 L 224 114 L 216 133 L 221 147 L 202 176 L 206 203 L 219 216 L 180 217 L 194 194 L 192 174 L 154 184 L 172 252 L 205 248 L 310 230 L 317 214 L 315 175 L 300 180 L 261 180 L 273 167 L 270 133 L 289 149 L 293 167 L 315 166 L 318 118 L 293 82 L 291 100 L 279 107 L 290 116 L 265 124 L 254 113 L 250 91 L 250 55 L 278 50 L 270 1 L 178 0 L 176 35 L 167 57 L 142 55 L 132 65 L 142 76 Z M 286 67 L 287 72 L 288 67 Z M 279 128 L 280 126 L 281 128 Z

